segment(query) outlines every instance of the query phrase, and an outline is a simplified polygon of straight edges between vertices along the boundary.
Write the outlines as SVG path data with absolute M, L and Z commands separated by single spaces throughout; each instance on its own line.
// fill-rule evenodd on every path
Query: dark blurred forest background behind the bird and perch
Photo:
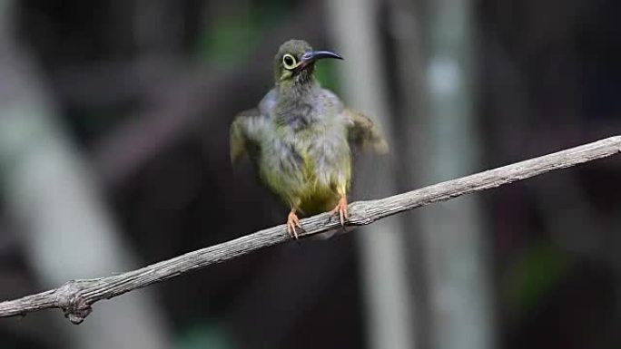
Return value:
M 279 45 L 378 121 L 375 199 L 621 133 L 616 0 L 0 0 L 0 300 L 284 222 L 228 127 Z M 94 305 L 16 348 L 618 348 L 621 161 L 271 247 Z

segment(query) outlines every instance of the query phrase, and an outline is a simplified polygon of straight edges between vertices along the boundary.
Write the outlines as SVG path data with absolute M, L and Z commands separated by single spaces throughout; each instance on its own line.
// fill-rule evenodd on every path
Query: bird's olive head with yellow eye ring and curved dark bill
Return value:
M 303 40 L 290 40 L 281 44 L 274 57 L 274 79 L 277 85 L 303 84 L 312 81 L 315 62 L 322 58 L 343 59 L 330 51 L 313 51 Z

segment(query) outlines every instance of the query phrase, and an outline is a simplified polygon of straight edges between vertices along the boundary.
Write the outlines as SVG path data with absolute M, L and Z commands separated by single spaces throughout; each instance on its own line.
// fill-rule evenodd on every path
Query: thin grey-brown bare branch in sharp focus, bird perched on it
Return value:
M 350 205 L 348 226 L 367 225 L 409 209 L 495 188 L 550 170 L 564 169 L 583 162 L 606 158 L 619 151 L 621 151 L 621 136 L 610 137 L 389 198 L 354 202 Z M 302 219 L 301 224 L 304 227 L 301 237 L 340 228 L 339 219 L 328 213 Z M 192 270 L 246 255 L 263 247 L 281 244 L 290 239 L 286 234 L 285 226 L 281 225 L 120 275 L 69 281 L 57 289 L 0 303 L 0 317 L 25 315 L 46 308 L 61 308 L 72 323 L 80 324 L 90 314 L 91 306 L 97 301 L 120 296 Z

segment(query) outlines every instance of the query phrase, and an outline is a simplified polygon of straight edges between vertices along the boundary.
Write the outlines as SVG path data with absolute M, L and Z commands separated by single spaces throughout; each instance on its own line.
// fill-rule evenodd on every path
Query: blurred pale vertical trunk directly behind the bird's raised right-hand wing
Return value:
M 390 110 L 389 79 L 383 73 L 388 62 L 381 36 L 381 0 L 326 1 L 335 48 L 352 59 L 340 65 L 342 97 L 350 105 L 373 115 L 388 140 L 395 140 L 396 121 Z M 360 72 L 365 72 L 360 74 Z M 409 118 L 408 118 L 409 119 Z M 403 148 L 399 148 L 403 149 Z M 401 153 L 361 161 L 364 171 L 358 186 L 366 195 L 381 197 L 399 191 Z M 415 188 L 408 186 L 405 188 Z M 419 336 L 413 301 L 404 219 L 390 219 L 366 228 L 357 238 L 360 282 L 366 318 L 365 339 L 369 349 L 400 349 L 416 346 Z M 389 233 L 386 233 L 389 232 Z

